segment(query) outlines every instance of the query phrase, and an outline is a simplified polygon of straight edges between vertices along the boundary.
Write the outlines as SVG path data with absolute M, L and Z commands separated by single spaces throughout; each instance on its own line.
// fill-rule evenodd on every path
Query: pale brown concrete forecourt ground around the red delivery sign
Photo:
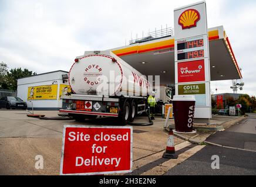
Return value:
M 35 111 L 47 117 L 58 111 Z M 40 120 L 27 117 L 24 110 L 0 110 L 0 175 L 59 175 L 62 131 L 65 124 L 114 126 L 115 118 L 97 120 Z M 136 122 L 148 122 L 146 116 Z M 164 119 L 156 117 L 153 126 L 133 126 L 133 169 L 161 157 L 168 134 L 163 130 Z M 120 126 L 120 124 L 119 124 Z M 174 138 L 176 144 L 183 142 Z M 163 154 L 163 153 L 161 153 Z M 36 155 L 43 157 L 43 169 L 35 168 Z M 152 159 L 150 160 L 150 158 Z

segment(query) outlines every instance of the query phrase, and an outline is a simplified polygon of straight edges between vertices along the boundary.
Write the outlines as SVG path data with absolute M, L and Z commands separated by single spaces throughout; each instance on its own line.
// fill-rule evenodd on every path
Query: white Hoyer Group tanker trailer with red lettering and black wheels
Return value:
M 71 95 L 62 96 L 60 113 L 81 121 L 118 117 L 123 124 L 146 112 L 153 91 L 147 78 L 111 51 L 86 51 L 69 71 Z

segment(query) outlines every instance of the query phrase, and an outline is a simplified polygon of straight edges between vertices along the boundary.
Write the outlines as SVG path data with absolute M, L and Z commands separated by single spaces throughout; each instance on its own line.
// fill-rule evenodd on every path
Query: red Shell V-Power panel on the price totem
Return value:
M 204 60 L 178 63 L 178 82 L 205 81 Z

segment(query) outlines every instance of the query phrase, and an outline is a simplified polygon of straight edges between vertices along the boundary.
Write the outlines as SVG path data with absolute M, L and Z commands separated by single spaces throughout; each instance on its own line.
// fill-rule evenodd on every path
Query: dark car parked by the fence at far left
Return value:
M 21 98 L 6 96 L 0 99 L 0 108 L 25 110 L 28 106 Z

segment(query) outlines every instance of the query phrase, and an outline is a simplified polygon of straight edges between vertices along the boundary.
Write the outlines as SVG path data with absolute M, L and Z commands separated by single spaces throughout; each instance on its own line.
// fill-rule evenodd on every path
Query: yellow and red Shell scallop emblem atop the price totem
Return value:
M 196 9 L 188 9 L 181 13 L 180 18 L 178 18 L 178 25 L 182 29 L 190 29 L 191 27 L 196 27 L 199 20 L 200 13 Z

